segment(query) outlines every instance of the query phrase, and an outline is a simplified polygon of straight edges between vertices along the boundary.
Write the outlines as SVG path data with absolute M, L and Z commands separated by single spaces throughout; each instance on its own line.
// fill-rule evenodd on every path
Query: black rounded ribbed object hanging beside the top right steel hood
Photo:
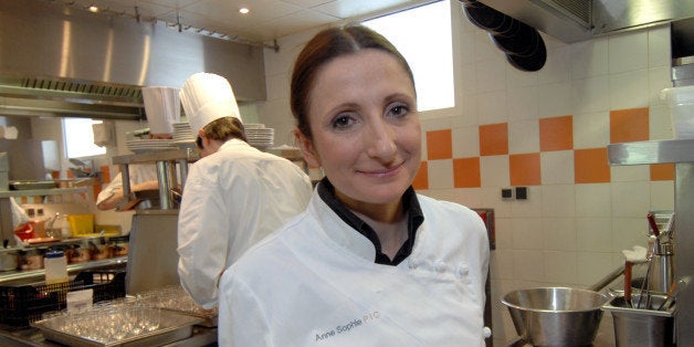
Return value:
M 476 0 L 459 0 L 463 13 L 475 27 L 488 32 L 506 60 L 522 71 L 538 71 L 547 61 L 547 48 L 539 32 Z

